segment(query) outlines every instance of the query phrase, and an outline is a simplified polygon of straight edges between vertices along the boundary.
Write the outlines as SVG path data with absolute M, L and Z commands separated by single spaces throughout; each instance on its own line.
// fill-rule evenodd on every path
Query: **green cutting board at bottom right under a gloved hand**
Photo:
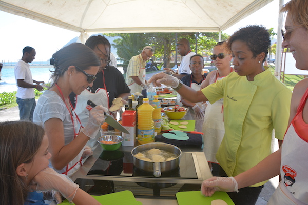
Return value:
M 215 192 L 213 196 L 206 197 L 200 191 L 178 192 L 176 194 L 179 205 L 210 205 L 216 199 L 224 200 L 228 205 L 235 205 L 226 192 Z

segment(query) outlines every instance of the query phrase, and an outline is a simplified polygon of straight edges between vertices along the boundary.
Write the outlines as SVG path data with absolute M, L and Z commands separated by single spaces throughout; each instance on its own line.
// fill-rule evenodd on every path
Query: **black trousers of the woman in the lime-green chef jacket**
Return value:
M 227 177 L 225 171 L 220 167 L 219 176 Z M 239 192 L 228 192 L 227 194 L 233 200 L 235 205 L 254 205 L 261 193 L 264 185 L 260 187 L 244 187 L 239 189 Z

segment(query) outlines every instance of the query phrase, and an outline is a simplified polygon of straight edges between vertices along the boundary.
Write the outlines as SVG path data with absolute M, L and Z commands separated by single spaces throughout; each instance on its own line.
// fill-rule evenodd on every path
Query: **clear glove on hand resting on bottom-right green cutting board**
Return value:
M 214 192 L 239 192 L 238 183 L 233 177 L 211 177 L 202 182 L 201 194 L 212 196 Z

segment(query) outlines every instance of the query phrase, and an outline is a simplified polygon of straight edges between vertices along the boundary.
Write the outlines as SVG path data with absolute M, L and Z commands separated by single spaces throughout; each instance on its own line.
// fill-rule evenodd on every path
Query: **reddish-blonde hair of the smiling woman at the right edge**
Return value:
M 281 8 L 280 12 L 287 12 L 295 25 L 308 29 L 308 0 L 291 0 Z

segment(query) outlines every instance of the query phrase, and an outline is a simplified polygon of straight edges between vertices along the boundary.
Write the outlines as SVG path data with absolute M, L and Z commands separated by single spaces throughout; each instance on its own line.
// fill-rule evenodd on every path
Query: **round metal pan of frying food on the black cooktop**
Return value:
M 177 157 L 170 161 L 150 162 L 150 161 L 140 160 L 134 156 L 135 154 L 138 154 L 139 152 L 143 152 L 145 150 L 150 150 L 153 148 L 174 153 L 177 155 Z M 179 166 L 180 156 L 182 154 L 182 151 L 180 148 L 174 145 L 170 145 L 167 143 L 161 143 L 161 142 L 152 142 L 152 143 L 147 143 L 147 144 L 143 144 L 143 145 L 139 145 L 135 147 L 131 151 L 131 154 L 133 156 L 133 165 L 135 167 L 137 167 L 138 169 L 147 171 L 147 172 L 153 172 L 153 175 L 155 177 L 160 177 L 162 175 L 162 172 L 173 170 Z

